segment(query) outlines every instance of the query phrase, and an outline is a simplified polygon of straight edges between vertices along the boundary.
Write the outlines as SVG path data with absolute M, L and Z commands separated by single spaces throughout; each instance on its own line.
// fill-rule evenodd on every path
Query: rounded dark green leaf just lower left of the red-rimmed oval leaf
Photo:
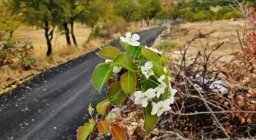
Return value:
M 107 90 L 107 98 L 113 105 L 123 104 L 126 94 L 122 91 L 120 82 L 114 82 Z

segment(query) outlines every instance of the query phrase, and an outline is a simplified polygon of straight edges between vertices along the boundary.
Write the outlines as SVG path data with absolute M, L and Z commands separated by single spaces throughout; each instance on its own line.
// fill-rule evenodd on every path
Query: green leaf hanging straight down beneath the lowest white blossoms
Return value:
M 148 104 L 147 107 L 143 107 L 143 115 L 144 115 L 144 129 L 146 132 L 149 132 L 153 129 L 158 122 L 158 117 L 156 115 L 151 115 L 152 105 Z

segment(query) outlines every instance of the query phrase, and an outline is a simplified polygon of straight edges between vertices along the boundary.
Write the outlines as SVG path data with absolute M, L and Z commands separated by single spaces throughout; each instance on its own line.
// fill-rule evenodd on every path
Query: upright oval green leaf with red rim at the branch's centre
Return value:
M 120 79 L 120 83 L 123 92 L 126 95 L 132 95 L 137 85 L 136 74 L 130 71 L 123 73 Z

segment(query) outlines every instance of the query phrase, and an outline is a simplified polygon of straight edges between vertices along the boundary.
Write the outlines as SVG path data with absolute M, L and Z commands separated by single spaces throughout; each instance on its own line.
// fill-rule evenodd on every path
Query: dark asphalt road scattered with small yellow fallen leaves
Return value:
M 164 28 L 139 33 L 152 44 Z M 121 48 L 118 42 L 110 45 Z M 0 98 L 0 140 L 59 140 L 75 135 L 88 121 L 88 104 L 105 98 L 91 85 L 91 74 L 104 61 L 92 51 L 35 76 Z M 104 88 L 106 91 L 106 88 Z M 76 139 L 76 138 L 74 138 Z

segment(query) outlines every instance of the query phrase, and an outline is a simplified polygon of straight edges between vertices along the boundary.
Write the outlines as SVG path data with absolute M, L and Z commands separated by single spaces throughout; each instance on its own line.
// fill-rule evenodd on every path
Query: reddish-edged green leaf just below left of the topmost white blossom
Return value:
M 120 53 L 121 51 L 118 48 L 106 47 L 106 48 L 103 48 L 101 51 L 99 51 L 98 55 L 104 59 L 114 60 L 114 58 L 116 58 L 117 55 Z

